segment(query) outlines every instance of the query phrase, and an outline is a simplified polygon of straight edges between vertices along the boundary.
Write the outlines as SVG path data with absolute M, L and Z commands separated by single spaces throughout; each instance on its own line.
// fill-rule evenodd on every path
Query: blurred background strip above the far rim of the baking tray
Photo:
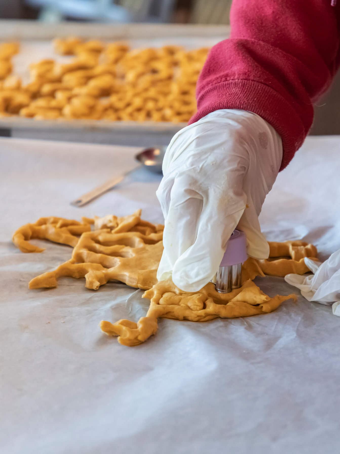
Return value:
M 1 19 L 228 24 L 231 0 L 1 0 Z

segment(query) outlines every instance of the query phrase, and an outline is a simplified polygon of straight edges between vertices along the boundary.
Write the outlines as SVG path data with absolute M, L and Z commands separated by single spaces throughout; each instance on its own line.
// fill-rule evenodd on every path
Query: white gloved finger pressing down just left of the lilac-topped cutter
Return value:
M 239 200 L 238 210 L 221 217 L 214 203 L 205 203 L 199 217 L 196 240 L 180 255 L 173 267 L 172 279 L 176 286 L 184 291 L 198 291 L 213 278 L 245 205 L 244 196 Z

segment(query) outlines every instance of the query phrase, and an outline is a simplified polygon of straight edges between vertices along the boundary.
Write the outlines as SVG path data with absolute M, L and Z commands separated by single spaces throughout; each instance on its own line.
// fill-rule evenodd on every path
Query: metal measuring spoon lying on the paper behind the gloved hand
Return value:
M 74 207 L 83 207 L 88 202 L 91 202 L 93 199 L 101 196 L 105 192 L 114 188 L 118 183 L 121 183 L 123 179 L 129 175 L 129 173 L 134 172 L 138 168 L 145 167 L 153 173 L 162 173 L 162 162 L 165 154 L 166 146 L 154 147 L 154 148 L 145 148 L 140 153 L 137 153 L 135 159 L 140 163 L 139 166 L 128 170 L 119 177 L 112 178 L 106 183 L 98 186 L 92 191 L 87 192 L 86 194 L 78 197 L 77 199 L 70 202 Z

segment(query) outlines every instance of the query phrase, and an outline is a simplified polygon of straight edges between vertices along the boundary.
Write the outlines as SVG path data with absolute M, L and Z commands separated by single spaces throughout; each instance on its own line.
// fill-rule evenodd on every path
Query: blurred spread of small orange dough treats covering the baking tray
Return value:
M 126 43 L 77 37 L 55 39 L 53 44 L 70 61 L 30 64 L 26 85 L 20 80 L 14 85 L 10 75 L 17 44 L 0 45 L 2 116 L 187 122 L 196 111 L 195 86 L 208 48 L 130 49 Z M 10 104 L 1 102 L 2 91 L 8 89 L 13 91 Z

